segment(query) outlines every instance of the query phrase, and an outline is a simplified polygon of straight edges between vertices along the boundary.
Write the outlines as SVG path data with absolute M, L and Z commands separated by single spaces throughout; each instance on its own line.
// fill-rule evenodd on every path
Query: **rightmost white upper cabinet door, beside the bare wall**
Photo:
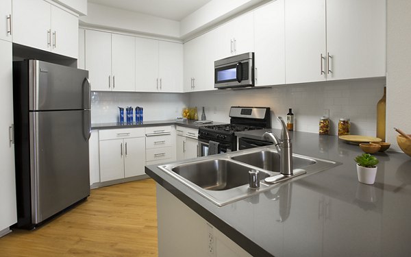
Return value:
M 386 1 L 327 1 L 329 79 L 386 75 Z

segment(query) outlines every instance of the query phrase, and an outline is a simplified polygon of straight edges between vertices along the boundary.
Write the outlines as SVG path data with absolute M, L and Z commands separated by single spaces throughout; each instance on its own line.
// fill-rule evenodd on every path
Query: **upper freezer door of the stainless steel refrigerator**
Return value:
M 29 60 L 29 110 L 90 108 L 88 71 Z

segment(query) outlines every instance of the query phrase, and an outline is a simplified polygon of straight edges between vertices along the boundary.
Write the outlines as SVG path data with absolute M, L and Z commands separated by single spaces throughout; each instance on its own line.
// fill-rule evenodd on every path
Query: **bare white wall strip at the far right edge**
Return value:
M 386 138 L 399 149 L 399 127 L 411 134 L 411 1 L 387 1 L 387 109 Z

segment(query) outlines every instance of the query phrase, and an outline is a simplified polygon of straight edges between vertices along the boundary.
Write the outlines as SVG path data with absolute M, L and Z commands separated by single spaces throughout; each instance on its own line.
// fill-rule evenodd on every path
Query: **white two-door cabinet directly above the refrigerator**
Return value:
M 78 17 L 42 0 L 13 0 L 13 42 L 78 56 Z

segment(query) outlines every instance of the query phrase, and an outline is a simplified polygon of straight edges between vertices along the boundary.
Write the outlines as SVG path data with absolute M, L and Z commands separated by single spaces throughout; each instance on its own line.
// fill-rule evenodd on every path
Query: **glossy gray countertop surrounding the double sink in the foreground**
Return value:
M 362 154 L 358 146 L 337 136 L 291 136 L 296 154 L 343 164 L 223 207 L 156 165 L 146 173 L 253 256 L 411 256 L 411 158 L 376 154 L 375 184 L 365 185 L 353 161 Z

